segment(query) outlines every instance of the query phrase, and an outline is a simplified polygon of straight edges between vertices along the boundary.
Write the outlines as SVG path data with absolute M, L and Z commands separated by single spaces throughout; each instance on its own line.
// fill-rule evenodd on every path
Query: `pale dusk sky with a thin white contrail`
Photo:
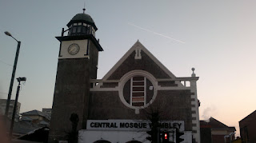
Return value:
M 17 42 L 16 77 L 26 77 L 21 113 L 51 108 L 62 28 L 82 0 L 0 0 L 0 98 L 7 98 Z M 98 27 L 98 78 L 139 40 L 176 77 L 198 80 L 200 119 L 235 126 L 256 109 L 256 1 L 86 0 Z M 18 82 L 14 81 L 12 99 Z M 238 134 L 237 134 L 238 136 Z

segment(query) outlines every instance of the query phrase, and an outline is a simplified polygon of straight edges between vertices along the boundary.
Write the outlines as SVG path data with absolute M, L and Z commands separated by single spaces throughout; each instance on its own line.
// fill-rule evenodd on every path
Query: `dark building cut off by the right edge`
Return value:
M 239 128 L 243 143 L 256 143 L 256 110 L 239 121 Z

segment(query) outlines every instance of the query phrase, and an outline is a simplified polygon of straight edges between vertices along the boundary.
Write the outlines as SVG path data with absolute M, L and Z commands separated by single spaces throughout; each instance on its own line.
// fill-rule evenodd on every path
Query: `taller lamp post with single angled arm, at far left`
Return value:
M 9 32 L 5 32 L 5 34 L 7 36 L 10 36 L 11 38 L 14 38 Z M 14 85 L 14 76 L 15 76 L 15 72 L 16 72 L 16 67 L 17 67 L 17 62 L 18 62 L 18 53 L 19 53 L 19 49 L 21 46 L 21 42 L 19 42 L 16 38 L 14 38 L 14 40 L 16 42 L 18 42 L 18 46 L 17 46 L 17 50 L 16 50 L 16 56 L 15 56 L 15 60 L 14 60 L 14 68 L 13 68 L 13 73 L 11 74 L 11 79 L 10 79 L 10 88 L 9 88 L 9 93 L 8 93 L 8 97 L 7 97 L 7 101 L 6 101 L 6 119 L 8 117 L 8 113 L 9 113 L 9 106 L 10 106 L 10 97 L 11 97 L 11 92 L 13 90 L 13 85 Z

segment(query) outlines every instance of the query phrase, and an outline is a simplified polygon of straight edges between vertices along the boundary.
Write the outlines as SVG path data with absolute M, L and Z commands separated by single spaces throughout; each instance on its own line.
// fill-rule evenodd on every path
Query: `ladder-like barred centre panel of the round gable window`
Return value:
M 146 105 L 146 77 L 132 77 L 130 80 L 130 104 Z

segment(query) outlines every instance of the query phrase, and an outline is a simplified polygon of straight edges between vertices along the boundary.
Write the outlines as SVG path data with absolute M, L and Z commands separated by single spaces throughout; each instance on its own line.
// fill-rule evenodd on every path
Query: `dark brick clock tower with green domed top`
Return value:
M 98 51 L 102 51 L 95 38 L 98 29 L 90 15 L 76 14 L 66 26 L 68 29 L 62 29 L 62 36 L 56 37 L 60 48 L 49 142 L 66 140 L 72 129 L 72 113 L 78 115 L 77 130 L 86 129 L 90 80 L 97 78 Z

